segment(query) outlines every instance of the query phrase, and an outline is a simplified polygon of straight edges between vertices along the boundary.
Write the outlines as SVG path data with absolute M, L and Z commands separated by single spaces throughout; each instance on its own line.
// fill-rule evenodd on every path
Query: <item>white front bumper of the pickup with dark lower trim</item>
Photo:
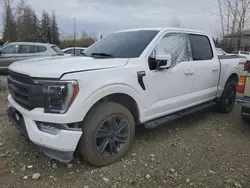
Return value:
M 50 119 L 51 119 L 50 114 Z M 58 161 L 70 162 L 82 135 L 80 130 L 60 130 L 56 135 L 41 131 L 29 112 L 11 100 L 9 96 L 8 117 L 22 134 L 38 145 L 42 151 Z M 58 117 L 56 117 L 58 118 Z

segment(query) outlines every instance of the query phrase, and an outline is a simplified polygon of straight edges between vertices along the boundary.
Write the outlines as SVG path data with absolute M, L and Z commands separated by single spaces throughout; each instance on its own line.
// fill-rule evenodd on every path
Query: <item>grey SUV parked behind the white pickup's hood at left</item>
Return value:
M 13 62 L 46 56 L 63 55 L 61 49 L 54 44 L 13 42 L 0 49 L 0 73 L 7 73 Z

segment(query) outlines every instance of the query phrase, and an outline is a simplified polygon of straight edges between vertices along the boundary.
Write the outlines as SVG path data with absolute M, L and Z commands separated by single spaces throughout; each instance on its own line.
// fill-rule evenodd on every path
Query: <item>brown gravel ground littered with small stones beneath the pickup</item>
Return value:
M 138 127 L 128 155 L 94 168 L 76 154 L 56 162 L 0 118 L 1 188 L 250 187 L 250 125 L 239 106 L 227 115 L 202 112 L 161 128 Z

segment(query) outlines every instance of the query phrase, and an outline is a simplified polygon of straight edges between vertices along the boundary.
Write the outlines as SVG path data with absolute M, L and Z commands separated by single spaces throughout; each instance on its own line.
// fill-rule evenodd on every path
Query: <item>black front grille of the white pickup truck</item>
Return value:
M 8 89 L 13 100 L 27 110 L 44 107 L 42 85 L 27 75 L 9 72 Z

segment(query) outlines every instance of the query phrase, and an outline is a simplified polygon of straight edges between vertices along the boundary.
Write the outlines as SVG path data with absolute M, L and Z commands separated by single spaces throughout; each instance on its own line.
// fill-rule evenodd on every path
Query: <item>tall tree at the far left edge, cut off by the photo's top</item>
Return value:
M 11 4 L 12 0 L 2 0 L 3 2 L 3 39 L 5 41 L 16 41 L 17 39 L 17 30 L 16 23 L 13 16 Z

